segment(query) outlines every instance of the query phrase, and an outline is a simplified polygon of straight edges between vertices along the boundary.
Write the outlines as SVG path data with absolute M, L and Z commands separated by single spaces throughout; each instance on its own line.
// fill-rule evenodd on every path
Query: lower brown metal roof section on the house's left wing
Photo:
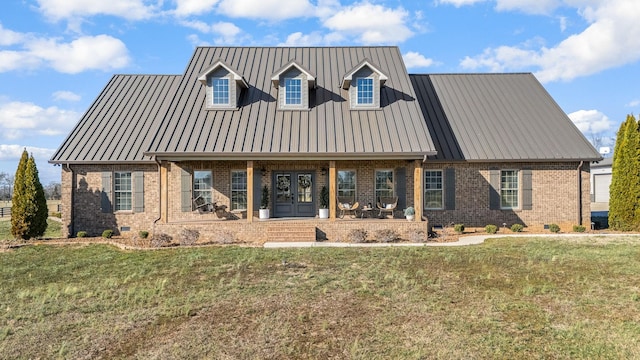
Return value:
M 80 118 L 52 163 L 149 162 L 156 133 L 179 75 L 115 75 Z

